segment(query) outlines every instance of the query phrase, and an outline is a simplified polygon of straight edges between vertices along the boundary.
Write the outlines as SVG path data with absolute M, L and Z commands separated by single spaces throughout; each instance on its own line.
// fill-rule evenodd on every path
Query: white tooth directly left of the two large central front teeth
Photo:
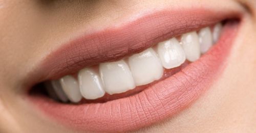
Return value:
M 84 68 L 78 73 L 80 92 L 86 99 L 97 99 L 104 96 L 100 76 L 90 68 Z

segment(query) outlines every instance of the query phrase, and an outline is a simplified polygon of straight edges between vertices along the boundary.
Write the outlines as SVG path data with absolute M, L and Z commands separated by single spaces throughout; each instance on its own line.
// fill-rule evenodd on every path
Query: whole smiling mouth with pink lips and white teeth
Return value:
M 220 15 L 221 14 L 221 15 Z M 181 112 L 218 79 L 241 13 L 158 11 L 82 35 L 30 74 L 28 99 L 86 131 L 131 131 Z

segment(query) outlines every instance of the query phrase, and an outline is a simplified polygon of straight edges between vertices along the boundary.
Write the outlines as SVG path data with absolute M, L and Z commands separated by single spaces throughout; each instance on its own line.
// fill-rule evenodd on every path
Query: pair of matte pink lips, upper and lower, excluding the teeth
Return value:
M 182 20 L 173 21 L 178 17 Z M 37 78 L 57 78 L 87 65 L 117 60 L 156 42 L 230 17 L 240 18 L 241 14 L 220 15 L 220 12 L 194 9 L 142 16 L 119 28 L 87 35 L 61 47 L 40 65 Z M 80 105 L 61 104 L 39 96 L 28 96 L 28 99 L 47 116 L 78 130 L 113 132 L 149 126 L 180 112 L 210 88 L 225 68 L 237 29 L 238 24 L 227 24 L 219 43 L 198 61 L 133 96 Z

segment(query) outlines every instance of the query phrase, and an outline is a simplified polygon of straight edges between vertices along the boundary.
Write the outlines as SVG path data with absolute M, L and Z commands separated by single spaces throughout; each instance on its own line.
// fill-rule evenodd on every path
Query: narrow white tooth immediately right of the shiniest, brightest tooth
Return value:
M 194 62 L 200 58 L 200 44 L 196 32 L 183 34 L 181 43 L 188 61 Z

